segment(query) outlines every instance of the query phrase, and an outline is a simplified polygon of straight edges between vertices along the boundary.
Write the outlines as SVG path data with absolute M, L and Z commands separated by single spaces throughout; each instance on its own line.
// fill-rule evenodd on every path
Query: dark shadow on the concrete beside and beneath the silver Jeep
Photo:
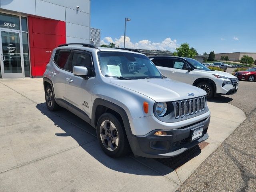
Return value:
M 128 156 L 121 158 L 110 158 L 109 156 L 107 156 L 98 144 L 98 140 L 96 138 L 96 130 L 87 122 L 85 122 L 78 116 L 74 115 L 73 113 L 69 112 L 68 110 L 62 108 L 56 112 L 46 112 L 46 103 L 40 103 L 36 106 L 36 108 L 40 110 L 42 114 L 48 116 L 48 118 L 52 120 L 52 122 L 54 122 L 55 126 L 57 126 L 59 129 L 65 132 L 55 133 L 56 136 L 71 136 L 88 154 L 90 154 L 90 156 L 94 157 L 98 162 L 100 162 L 104 166 L 118 172 L 136 175 L 159 176 L 158 172 L 152 171 L 151 169 L 147 168 L 147 166 L 144 166 L 142 163 L 139 163 L 140 161 L 134 158 L 132 152 L 130 152 Z M 53 114 L 55 114 L 58 117 L 52 116 Z M 70 123 L 74 126 L 68 126 L 68 124 Z M 87 134 L 82 132 L 86 132 Z M 93 141 L 92 136 L 95 137 L 95 140 Z M 164 170 L 164 174 L 169 174 L 170 172 L 174 171 L 177 167 L 182 166 L 182 164 L 188 162 L 189 160 L 191 160 L 200 153 L 200 148 L 198 146 L 195 146 L 194 148 L 187 150 L 186 152 L 179 156 L 173 158 L 165 158 L 161 160 L 159 159 L 158 161 L 172 168 Z

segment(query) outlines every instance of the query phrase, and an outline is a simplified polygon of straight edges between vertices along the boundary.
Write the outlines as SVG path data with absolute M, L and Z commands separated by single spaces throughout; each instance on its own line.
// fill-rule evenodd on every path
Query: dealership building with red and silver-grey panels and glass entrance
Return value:
M 58 45 L 95 44 L 90 31 L 90 0 L 0 0 L 0 78 L 42 77 Z

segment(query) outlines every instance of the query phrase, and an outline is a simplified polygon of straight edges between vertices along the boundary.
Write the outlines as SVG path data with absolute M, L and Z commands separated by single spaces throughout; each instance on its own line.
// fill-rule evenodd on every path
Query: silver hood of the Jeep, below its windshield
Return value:
M 177 101 L 206 95 L 206 92 L 200 88 L 169 78 L 138 80 L 111 78 L 110 82 L 148 96 L 156 102 Z M 188 96 L 188 94 L 194 94 L 194 96 Z

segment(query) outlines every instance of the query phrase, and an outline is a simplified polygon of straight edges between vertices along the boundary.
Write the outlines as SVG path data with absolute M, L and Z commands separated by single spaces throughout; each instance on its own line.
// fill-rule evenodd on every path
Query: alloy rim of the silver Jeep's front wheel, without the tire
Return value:
M 111 121 L 105 120 L 100 125 L 100 139 L 107 150 L 114 151 L 118 147 L 118 132 Z

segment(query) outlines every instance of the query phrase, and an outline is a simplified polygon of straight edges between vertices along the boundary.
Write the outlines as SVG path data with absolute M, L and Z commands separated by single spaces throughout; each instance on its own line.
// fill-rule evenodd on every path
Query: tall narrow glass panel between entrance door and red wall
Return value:
M 28 34 L 23 32 L 22 32 L 22 46 L 23 46 L 23 58 L 24 58 L 24 74 L 25 74 L 25 77 L 30 77 Z

